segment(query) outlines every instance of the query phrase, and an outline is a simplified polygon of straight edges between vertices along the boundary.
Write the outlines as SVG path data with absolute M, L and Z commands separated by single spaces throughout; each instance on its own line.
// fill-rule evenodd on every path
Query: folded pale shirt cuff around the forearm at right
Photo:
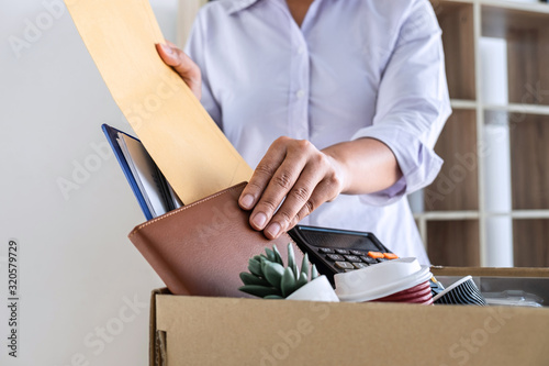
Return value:
M 381 141 L 393 152 L 402 171 L 402 178 L 391 187 L 361 195 L 360 199 L 371 206 L 386 206 L 403 196 L 419 190 L 433 182 L 444 160 L 416 135 L 395 127 L 394 124 L 379 124 L 359 130 L 351 140 L 370 137 Z

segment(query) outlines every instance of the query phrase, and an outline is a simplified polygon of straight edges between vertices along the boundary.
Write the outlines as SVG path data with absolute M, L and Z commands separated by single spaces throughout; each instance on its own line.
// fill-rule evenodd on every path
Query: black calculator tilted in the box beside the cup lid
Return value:
M 334 275 L 396 259 L 372 233 L 296 225 L 288 232 L 309 254 L 318 273 L 334 284 Z

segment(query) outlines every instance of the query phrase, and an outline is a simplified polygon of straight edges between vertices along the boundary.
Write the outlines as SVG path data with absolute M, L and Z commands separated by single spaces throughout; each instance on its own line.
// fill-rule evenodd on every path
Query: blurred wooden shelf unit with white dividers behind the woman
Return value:
M 514 266 L 549 266 L 549 4 L 495 0 L 432 1 L 442 29 L 453 114 L 435 146 L 445 165 L 416 197 L 414 212 L 433 264 L 492 265 L 500 243 L 488 220 L 512 222 Z M 503 38 L 508 102 L 484 101 L 481 37 Z M 537 90 L 537 91 L 536 91 Z M 486 207 L 486 123 L 508 127 L 511 209 Z M 417 202 L 417 198 L 413 199 Z M 422 208 L 423 207 L 423 208 Z

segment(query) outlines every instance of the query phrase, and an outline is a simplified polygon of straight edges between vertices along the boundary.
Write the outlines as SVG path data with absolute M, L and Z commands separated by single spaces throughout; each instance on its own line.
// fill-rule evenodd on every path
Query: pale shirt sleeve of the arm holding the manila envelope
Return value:
M 208 34 L 205 31 L 206 27 L 204 26 L 204 21 L 202 20 L 203 12 L 204 9 L 199 12 L 197 19 L 194 20 L 189 40 L 187 41 L 187 46 L 184 47 L 184 53 L 199 66 L 202 75 L 202 98 L 200 99 L 202 107 L 204 107 L 204 109 L 220 126 L 220 129 L 223 129 L 221 108 L 213 96 L 210 79 L 208 77 Z

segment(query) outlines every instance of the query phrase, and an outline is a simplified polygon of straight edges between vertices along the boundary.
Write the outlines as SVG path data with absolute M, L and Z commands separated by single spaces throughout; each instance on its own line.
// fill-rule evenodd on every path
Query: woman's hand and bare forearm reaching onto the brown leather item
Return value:
M 374 138 L 318 151 L 309 141 L 280 137 L 257 166 L 238 203 L 253 210 L 251 228 L 276 239 L 340 193 L 377 192 L 401 177 L 393 152 Z

